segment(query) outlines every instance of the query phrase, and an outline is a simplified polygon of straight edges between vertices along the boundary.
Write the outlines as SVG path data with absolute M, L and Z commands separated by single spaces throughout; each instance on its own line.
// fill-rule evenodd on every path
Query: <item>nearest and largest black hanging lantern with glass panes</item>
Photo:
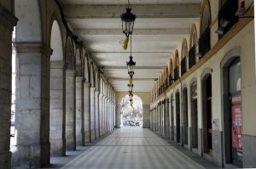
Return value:
M 126 12 L 121 15 L 123 33 L 126 37 L 129 37 L 133 32 L 134 21 L 136 20 L 136 14 L 131 13 L 130 1 L 128 0 L 128 7 Z

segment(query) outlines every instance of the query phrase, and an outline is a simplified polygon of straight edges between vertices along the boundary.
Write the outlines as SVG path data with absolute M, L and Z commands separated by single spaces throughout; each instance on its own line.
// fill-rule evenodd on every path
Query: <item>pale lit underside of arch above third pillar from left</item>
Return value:
M 61 37 L 61 28 L 59 23 L 54 20 L 51 25 L 50 31 L 50 48 L 53 49 L 53 53 L 50 56 L 50 61 L 63 61 L 63 42 Z

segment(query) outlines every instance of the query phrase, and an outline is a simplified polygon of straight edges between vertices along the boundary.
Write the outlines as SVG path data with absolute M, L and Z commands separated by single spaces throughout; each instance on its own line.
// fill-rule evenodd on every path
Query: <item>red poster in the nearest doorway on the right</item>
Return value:
M 242 149 L 242 116 L 241 105 L 232 106 L 232 147 Z

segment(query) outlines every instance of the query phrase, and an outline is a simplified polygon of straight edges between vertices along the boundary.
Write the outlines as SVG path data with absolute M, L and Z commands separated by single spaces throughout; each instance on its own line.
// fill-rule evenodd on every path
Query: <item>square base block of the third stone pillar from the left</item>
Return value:
M 66 155 L 66 140 L 65 139 L 50 139 L 50 156 L 65 156 Z

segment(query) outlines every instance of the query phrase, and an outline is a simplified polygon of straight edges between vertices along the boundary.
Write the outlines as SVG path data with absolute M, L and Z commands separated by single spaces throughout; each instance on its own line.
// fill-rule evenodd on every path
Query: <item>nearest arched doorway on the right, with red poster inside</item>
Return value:
M 232 57 L 223 67 L 224 159 L 242 167 L 241 61 Z

